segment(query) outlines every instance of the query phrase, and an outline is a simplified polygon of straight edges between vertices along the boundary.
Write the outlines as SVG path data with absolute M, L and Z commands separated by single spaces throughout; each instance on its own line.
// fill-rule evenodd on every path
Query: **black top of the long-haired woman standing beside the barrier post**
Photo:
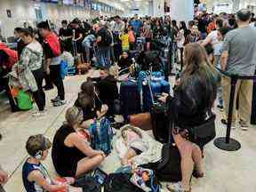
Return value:
M 174 97 L 169 97 L 167 103 L 177 126 L 191 128 L 204 123 L 217 97 L 218 80 L 217 76 L 193 75 L 185 80 L 188 83 L 175 88 Z

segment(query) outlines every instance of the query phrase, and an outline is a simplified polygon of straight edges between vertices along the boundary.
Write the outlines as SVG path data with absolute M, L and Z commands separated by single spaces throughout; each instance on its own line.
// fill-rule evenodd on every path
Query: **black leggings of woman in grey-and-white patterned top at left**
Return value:
M 32 71 L 35 79 L 38 90 L 36 92 L 32 92 L 33 98 L 36 102 L 37 107 L 39 108 L 39 111 L 43 111 L 45 107 L 45 93 L 43 90 L 43 80 L 44 80 L 44 73 L 43 69 L 40 68 L 38 70 Z

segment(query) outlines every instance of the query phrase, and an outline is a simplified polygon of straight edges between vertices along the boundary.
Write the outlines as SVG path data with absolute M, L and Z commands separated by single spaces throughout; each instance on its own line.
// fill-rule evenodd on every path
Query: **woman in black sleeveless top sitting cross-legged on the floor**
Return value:
M 82 110 L 68 108 L 66 121 L 54 136 L 52 162 L 61 177 L 77 177 L 99 166 L 105 154 L 93 150 L 78 133 L 83 121 Z

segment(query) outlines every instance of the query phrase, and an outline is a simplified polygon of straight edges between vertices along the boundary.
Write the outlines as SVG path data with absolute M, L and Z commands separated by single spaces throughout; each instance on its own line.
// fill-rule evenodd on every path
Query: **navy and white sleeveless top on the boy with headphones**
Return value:
M 22 180 L 23 180 L 23 185 L 26 191 L 27 192 L 46 192 L 44 188 L 37 185 L 36 182 L 34 181 L 30 182 L 28 180 L 28 175 L 30 174 L 30 172 L 34 172 L 34 171 L 41 172 L 44 175 L 44 179 L 47 181 L 47 183 L 52 184 L 52 180 L 50 179 L 49 174 L 44 168 L 43 164 L 29 164 L 27 160 L 22 168 Z

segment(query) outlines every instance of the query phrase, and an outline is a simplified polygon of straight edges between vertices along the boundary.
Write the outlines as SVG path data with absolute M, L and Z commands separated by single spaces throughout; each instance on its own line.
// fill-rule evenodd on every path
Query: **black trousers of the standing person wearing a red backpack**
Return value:
M 64 84 L 60 76 L 60 65 L 50 66 L 50 76 L 52 83 L 57 87 L 58 96 L 60 97 L 60 100 L 65 100 Z

